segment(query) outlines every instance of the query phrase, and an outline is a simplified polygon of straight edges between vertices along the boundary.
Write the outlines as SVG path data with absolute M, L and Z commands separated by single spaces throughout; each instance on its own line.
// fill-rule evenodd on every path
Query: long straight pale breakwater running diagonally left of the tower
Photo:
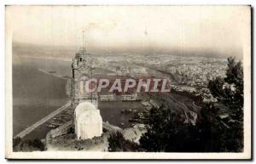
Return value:
M 40 125 L 42 125 L 44 122 L 49 121 L 49 119 L 53 118 L 54 116 L 58 115 L 59 113 L 61 113 L 61 111 L 66 110 L 69 106 L 71 105 L 71 102 L 69 101 L 66 105 L 61 106 L 61 108 L 58 108 L 57 110 L 51 112 L 48 116 L 45 116 L 43 119 L 41 119 L 40 121 L 32 124 L 32 126 L 27 127 L 25 130 L 21 131 L 20 133 L 18 133 L 15 138 L 23 138 L 25 137 L 27 134 L 31 133 L 35 128 L 39 127 Z

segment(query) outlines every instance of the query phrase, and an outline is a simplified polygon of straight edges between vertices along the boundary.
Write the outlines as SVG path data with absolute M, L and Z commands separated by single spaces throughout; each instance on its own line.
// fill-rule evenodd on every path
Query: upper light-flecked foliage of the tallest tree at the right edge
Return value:
M 243 69 L 241 61 L 228 58 L 226 77 L 217 77 L 208 84 L 212 96 L 228 106 L 232 119 L 243 121 Z

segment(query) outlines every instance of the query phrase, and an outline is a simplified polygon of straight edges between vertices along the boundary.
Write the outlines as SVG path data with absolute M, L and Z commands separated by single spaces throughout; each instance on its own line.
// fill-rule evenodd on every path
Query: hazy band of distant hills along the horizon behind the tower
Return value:
M 73 46 L 54 46 L 54 45 L 38 45 L 24 42 L 13 42 L 13 53 L 15 55 L 26 55 L 40 58 L 56 58 L 56 59 L 72 59 L 77 52 L 77 48 Z M 185 49 L 185 48 L 96 48 L 89 49 L 90 55 L 158 55 L 170 54 L 177 56 L 201 56 L 209 58 L 228 58 L 235 56 L 242 59 L 241 49 L 230 49 L 229 52 L 218 52 L 218 49 Z

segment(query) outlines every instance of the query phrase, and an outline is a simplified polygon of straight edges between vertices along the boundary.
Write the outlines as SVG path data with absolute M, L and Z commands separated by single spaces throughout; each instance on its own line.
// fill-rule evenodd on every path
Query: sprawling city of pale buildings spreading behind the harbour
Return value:
M 172 89 L 194 93 L 204 101 L 216 101 L 207 90 L 209 80 L 225 76 L 226 59 L 201 56 L 176 56 L 172 54 L 119 54 L 94 58 L 96 66 L 112 71 L 113 75 L 169 78 Z M 156 71 L 156 72 L 154 72 Z

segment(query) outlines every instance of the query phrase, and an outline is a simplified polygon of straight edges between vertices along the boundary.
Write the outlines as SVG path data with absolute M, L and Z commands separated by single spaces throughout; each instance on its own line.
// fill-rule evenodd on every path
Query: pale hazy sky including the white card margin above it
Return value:
M 247 7 L 9 6 L 14 41 L 99 48 L 241 49 Z M 247 37 L 247 36 L 246 36 Z

